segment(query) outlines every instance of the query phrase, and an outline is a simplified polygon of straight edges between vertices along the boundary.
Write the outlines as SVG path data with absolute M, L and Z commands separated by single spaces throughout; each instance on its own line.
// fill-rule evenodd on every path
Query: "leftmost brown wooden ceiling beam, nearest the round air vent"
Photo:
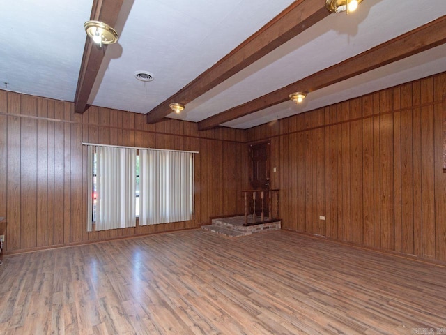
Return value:
M 110 27 L 114 27 L 122 4 L 123 0 L 95 0 L 91 8 L 90 20 L 105 22 Z M 75 95 L 75 112 L 77 113 L 83 113 L 86 110 L 86 103 L 89 100 L 102 59 L 104 59 L 105 50 L 107 50 L 107 45 L 99 47 L 93 43 L 89 36 L 86 36 Z

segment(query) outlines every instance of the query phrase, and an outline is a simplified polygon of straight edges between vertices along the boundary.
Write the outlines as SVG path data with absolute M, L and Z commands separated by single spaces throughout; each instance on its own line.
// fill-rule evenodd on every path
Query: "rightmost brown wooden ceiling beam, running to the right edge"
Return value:
M 341 61 L 313 75 L 199 122 L 204 131 L 289 100 L 296 91 L 312 92 L 446 43 L 446 16 Z M 290 102 L 291 103 L 291 102 Z

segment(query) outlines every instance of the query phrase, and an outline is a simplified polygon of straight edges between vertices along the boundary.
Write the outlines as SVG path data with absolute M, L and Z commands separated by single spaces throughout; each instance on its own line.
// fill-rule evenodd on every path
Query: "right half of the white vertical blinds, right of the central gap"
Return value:
M 139 225 L 192 218 L 193 158 L 190 152 L 139 150 Z

